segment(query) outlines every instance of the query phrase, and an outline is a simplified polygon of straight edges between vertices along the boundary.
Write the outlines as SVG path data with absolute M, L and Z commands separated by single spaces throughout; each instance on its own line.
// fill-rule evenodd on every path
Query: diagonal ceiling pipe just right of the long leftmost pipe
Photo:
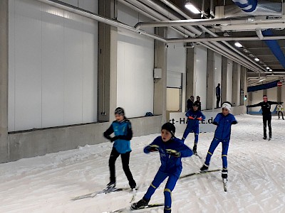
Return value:
M 152 14 L 153 17 L 155 18 L 158 18 L 159 21 L 165 21 L 165 20 L 168 20 L 167 17 L 165 16 L 162 16 L 161 13 L 157 13 L 157 11 L 151 9 L 150 7 L 148 6 L 145 6 L 145 4 L 142 4 L 140 1 L 130 1 L 130 0 L 118 0 L 120 1 L 121 3 L 125 4 L 126 6 L 130 6 L 131 8 L 133 8 L 133 6 L 135 6 L 136 8 L 140 9 L 141 11 L 143 12 L 146 12 L 146 13 L 149 13 L 149 14 Z M 127 5 L 128 4 L 128 5 Z M 181 31 L 181 32 L 184 32 L 185 34 L 191 36 L 191 37 L 195 37 L 195 33 L 192 33 L 190 31 L 188 31 L 187 29 L 185 28 L 182 28 L 180 26 L 177 26 L 176 29 L 178 31 Z M 185 36 L 185 34 L 183 36 Z

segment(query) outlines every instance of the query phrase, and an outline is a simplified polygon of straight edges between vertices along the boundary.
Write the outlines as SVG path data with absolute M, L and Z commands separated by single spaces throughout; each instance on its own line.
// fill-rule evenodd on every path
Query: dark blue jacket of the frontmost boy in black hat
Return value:
M 182 162 L 181 158 L 190 157 L 193 152 L 186 146 L 180 139 L 171 138 L 169 141 L 162 141 L 162 137 L 158 136 L 155 140 L 150 143 L 150 145 L 159 146 L 158 151 L 160 152 L 160 172 L 167 173 L 169 175 L 176 175 L 179 178 L 182 171 Z M 167 149 L 172 149 L 177 152 L 180 152 L 180 157 L 175 157 L 167 153 Z M 146 146 L 143 150 L 145 153 L 150 153 L 149 146 Z

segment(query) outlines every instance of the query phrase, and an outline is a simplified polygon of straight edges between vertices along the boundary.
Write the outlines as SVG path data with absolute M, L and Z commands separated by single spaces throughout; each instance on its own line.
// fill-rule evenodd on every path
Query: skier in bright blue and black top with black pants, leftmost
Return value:
M 115 160 L 120 155 L 123 164 L 123 170 L 128 178 L 130 188 L 133 190 L 136 187 L 133 175 L 130 172 L 130 139 L 133 138 L 133 131 L 130 121 L 125 117 L 125 111 L 123 108 L 118 107 L 115 109 L 115 121 L 110 127 L 103 133 L 105 138 L 108 138 L 113 144 L 113 149 L 110 153 L 109 168 L 110 168 L 110 182 L 107 187 L 115 187 Z M 110 134 L 114 133 L 112 138 Z

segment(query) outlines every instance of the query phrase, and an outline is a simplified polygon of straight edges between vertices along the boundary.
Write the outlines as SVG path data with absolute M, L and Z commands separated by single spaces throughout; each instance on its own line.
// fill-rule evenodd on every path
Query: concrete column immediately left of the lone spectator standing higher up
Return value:
M 206 109 L 213 109 L 216 100 L 214 85 L 214 51 L 208 49 Z

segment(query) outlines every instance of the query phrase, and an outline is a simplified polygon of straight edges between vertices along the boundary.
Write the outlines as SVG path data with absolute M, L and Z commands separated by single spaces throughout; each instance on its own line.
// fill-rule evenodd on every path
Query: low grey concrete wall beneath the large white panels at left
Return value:
M 162 116 L 151 116 L 130 119 L 133 126 L 133 136 L 159 133 Z M 46 153 L 75 149 L 86 144 L 93 145 L 106 142 L 103 132 L 110 122 L 85 124 L 63 128 L 43 129 L 8 135 L 8 161 L 21 158 L 31 158 Z M 1 163 L 7 160 L 2 159 Z

